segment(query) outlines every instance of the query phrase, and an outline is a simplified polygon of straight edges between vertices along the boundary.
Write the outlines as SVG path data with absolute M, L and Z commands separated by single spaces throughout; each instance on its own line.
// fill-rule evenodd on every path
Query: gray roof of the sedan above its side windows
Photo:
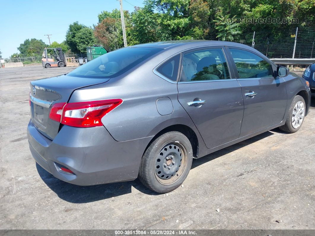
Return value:
M 176 47 L 179 50 L 185 50 L 185 49 L 194 48 L 194 47 L 215 46 L 215 45 L 241 46 L 243 48 L 253 49 L 241 43 L 233 43 L 233 42 L 217 41 L 217 40 L 172 40 L 172 41 L 163 41 L 163 42 L 154 42 L 154 43 L 142 43 L 142 44 L 137 44 L 130 47 L 146 47 L 146 48 L 160 48 L 160 49 L 170 49 L 170 48 Z

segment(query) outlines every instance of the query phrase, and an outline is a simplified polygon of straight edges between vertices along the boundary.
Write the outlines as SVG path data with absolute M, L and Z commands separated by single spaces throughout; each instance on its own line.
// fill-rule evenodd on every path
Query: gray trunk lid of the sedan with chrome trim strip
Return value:
M 67 102 L 76 89 L 105 83 L 109 78 L 80 78 L 61 75 L 30 83 L 31 119 L 39 132 L 53 140 L 60 123 L 49 118 L 55 103 Z

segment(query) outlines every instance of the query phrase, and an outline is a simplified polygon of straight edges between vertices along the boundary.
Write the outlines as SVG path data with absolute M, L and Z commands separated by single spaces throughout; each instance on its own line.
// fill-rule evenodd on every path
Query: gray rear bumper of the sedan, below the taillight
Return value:
M 40 166 L 62 181 L 85 186 L 137 178 L 141 157 L 152 137 L 117 142 L 103 126 L 64 125 L 51 141 L 30 121 L 27 138 L 31 154 Z M 59 171 L 55 164 L 75 175 Z

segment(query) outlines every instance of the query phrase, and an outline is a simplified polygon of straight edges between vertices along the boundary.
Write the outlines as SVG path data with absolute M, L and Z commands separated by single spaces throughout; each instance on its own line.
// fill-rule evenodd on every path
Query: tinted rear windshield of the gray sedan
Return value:
M 89 61 L 67 75 L 83 78 L 116 77 L 161 50 L 158 48 L 118 49 Z

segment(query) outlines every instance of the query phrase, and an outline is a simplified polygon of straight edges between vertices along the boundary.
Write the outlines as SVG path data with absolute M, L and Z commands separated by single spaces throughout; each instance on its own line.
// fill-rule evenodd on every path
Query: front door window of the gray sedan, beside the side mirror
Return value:
M 273 77 L 271 65 L 249 51 L 230 48 L 240 79 Z

